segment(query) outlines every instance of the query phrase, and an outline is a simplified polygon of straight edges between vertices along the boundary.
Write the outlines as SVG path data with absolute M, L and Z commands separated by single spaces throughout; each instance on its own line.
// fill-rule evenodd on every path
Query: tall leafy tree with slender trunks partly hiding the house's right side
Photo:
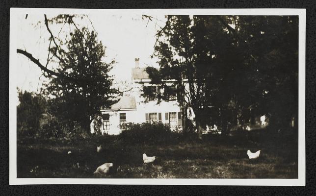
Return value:
M 208 29 L 210 24 L 212 28 Z M 155 55 L 158 56 L 160 67 L 159 70 L 148 68 L 147 72 L 152 83 L 160 87 L 164 87 L 166 81 L 174 80 L 184 120 L 186 107 L 192 107 L 198 136 L 201 138 L 209 120 L 211 98 L 218 89 L 216 81 L 220 77 L 217 74 L 226 74 L 232 66 L 228 58 L 222 58 L 225 54 L 233 53 L 229 48 L 232 36 L 216 17 L 209 16 L 168 16 L 166 25 L 157 36 Z M 225 61 L 218 61 L 218 58 Z M 217 69 L 220 65 L 223 65 L 221 69 Z

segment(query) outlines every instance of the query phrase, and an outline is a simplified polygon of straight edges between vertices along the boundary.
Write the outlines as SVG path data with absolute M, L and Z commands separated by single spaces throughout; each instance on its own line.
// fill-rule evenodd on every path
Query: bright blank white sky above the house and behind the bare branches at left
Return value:
M 44 21 L 43 15 L 25 15 L 18 18 L 17 48 L 26 49 L 29 53 L 45 65 L 48 54 L 48 31 L 45 26 L 34 27 L 38 21 Z M 140 67 L 157 66 L 157 58 L 151 59 L 155 34 L 160 26 L 164 25 L 163 15 L 155 16 L 158 21 L 142 20 L 141 15 L 89 15 L 89 18 L 98 32 L 98 39 L 106 46 L 106 61 L 116 60 L 111 74 L 118 81 L 131 79 L 131 69 L 134 67 L 134 58 L 140 58 Z M 50 16 L 48 16 L 50 18 Z M 157 22 L 157 23 L 156 23 Z M 90 22 L 82 20 L 79 25 L 89 25 Z M 147 25 L 147 26 L 146 26 Z M 53 28 L 54 35 L 59 28 Z M 41 70 L 26 56 L 17 54 L 17 87 L 39 92 L 45 78 Z

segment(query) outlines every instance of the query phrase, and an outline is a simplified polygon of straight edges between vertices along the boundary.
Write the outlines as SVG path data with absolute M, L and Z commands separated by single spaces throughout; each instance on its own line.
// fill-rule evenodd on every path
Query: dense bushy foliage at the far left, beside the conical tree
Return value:
M 87 132 L 79 123 L 65 121 L 49 112 L 47 99 L 40 94 L 18 91 L 17 138 L 84 138 Z

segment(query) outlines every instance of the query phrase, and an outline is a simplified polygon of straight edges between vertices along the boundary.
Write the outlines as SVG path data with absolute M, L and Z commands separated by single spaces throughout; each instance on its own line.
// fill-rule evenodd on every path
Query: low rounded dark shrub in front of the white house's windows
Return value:
M 178 142 L 179 136 L 163 123 L 127 123 L 120 140 L 133 144 L 170 144 Z

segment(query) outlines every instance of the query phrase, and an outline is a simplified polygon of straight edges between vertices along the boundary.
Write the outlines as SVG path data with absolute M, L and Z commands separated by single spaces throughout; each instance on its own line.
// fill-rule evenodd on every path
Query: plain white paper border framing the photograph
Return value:
M 164 15 L 297 15 L 299 17 L 298 179 L 153 179 L 153 178 L 17 178 L 16 33 L 18 14 L 164 14 Z M 305 186 L 305 38 L 306 9 L 59 9 L 10 8 L 9 56 L 9 184 L 122 184 L 122 185 L 250 185 Z

